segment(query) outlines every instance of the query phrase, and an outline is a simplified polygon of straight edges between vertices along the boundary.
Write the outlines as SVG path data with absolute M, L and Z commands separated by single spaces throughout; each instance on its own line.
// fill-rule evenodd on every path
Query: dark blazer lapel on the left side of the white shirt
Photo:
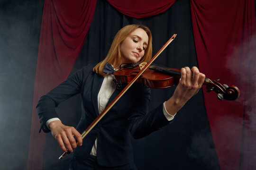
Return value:
M 104 77 L 94 74 L 93 83 L 92 83 L 92 93 L 91 93 L 91 99 L 92 99 L 92 105 L 95 110 L 96 115 L 99 115 L 99 107 L 98 107 L 98 93 L 101 89 L 101 85 L 103 82 Z

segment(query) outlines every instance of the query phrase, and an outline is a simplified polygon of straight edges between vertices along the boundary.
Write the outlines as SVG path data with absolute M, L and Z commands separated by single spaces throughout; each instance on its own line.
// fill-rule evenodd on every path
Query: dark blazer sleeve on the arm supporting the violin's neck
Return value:
M 150 88 L 144 85 L 137 89 L 136 97 L 133 99 L 133 110 L 128 118 L 130 133 L 135 139 L 145 137 L 174 120 L 166 119 L 163 103 L 148 112 Z

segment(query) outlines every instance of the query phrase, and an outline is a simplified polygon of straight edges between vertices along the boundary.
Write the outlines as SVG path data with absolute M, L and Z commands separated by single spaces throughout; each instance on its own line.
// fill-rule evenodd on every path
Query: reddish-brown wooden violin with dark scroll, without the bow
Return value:
M 118 86 L 122 84 L 130 83 L 140 70 L 146 65 L 146 63 L 129 64 L 124 66 L 113 74 L 115 76 L 115 82 Z M 163 66 L 152 64 L 137 78 L 136 83 L 147 85 L 150 88 L 166 88 L 174 85 L 178 85 L 181 78 L 180 69 L 177 68 L 165 68 Z M 205 78 L 203 85 L 206 85 L 206 92 L 214 91 L 217 93 L 219 100 L 236 100 L 240 95 L 238 87 L 226 84 L 221 85 L 219 79 L 214 81 L 210 78 Z

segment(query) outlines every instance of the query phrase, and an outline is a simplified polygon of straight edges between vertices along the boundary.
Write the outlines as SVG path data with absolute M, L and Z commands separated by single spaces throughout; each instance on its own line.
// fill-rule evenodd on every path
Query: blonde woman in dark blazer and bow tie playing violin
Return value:
M 88 65 L 42 96 L 37 104 L 41 128 L 50 132 L 64 152 L 73 152 L 71 170 L 133 170 L 134 138 L 144 137 L 169 124 L 174 115 L 195 95 L 205 76 L 198 68 L 181 69 L 181 79 L 169 100 L 148 113 L 150 89 L 134 84 L 104 118 L 82 140 L 82 133 L 120 92 L 111 71 L 122 64 L 149 61 L 152 55 L 151 32 L 146 26 L 129 25 L 116 34 L 107 57 L 95 67 Z M 193 76 L 191 74 L 193 72 Z M 77 130 L 65 126 L 55 107 L 69 97 L 82 96 L 82 117 Z

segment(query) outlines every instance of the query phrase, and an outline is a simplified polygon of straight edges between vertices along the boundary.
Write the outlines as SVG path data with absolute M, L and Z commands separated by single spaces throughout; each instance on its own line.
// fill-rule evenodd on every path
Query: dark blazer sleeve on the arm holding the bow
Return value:
M 92 70 L 92 67 L 83 67 L 39 99 L 37 103 L 37 114 L 41 123 L 40 131 L 43 129 L 44 132 L 50 132 L 50 129 L 46 127 L 46 121 L 52 118 L 58 118 L 55 108 L 60 102 L 81 92 L 84 76 L 88 74 L 89 70 Z

